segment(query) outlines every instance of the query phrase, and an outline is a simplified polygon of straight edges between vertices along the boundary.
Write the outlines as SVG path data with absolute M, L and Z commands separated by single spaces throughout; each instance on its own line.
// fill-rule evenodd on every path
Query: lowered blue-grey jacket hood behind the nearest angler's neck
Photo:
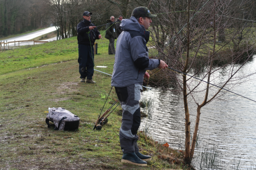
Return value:
M 127 31 L 127 30 L 138 31 L 142 35 L 146 31 L 144 26 L 140 25 L 134 16 L 132 16 L 130 19 L 122 19 L 120 27 L 122 27 L 123 31 Z

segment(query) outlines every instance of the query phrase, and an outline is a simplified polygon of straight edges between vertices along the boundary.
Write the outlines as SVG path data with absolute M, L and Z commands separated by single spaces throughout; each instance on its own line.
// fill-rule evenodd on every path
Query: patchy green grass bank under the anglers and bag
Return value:
M 98 42 L 100 55 L 95 55 L 95 65 L 108 66 L 98 69 L 112 74 L 114 56 L 106 53 L 108 40 Z M 109 116 L 109 123 L 101 131 L 92 130 L 111 89 L 111 77 L 95 72 L 96 85 L 80 83 L 77 51 L 77 40 L 73 37 L 0 53 L 0 168 L 182 167 L 182 152 L 162 147 L 143 132 L 138 141 L 143 147 L 141 152 L 153 155 L 153 161 L 147 167 L 121 164 L 118 137 L 121 108 Z M 116 99 L 114 90 L 111 99 Z M 106 105 L 107 108 L 111 103 Z M 48 129 L 45 123 L 48 107 L 64 107 L 78 115 L 79 130 Z

